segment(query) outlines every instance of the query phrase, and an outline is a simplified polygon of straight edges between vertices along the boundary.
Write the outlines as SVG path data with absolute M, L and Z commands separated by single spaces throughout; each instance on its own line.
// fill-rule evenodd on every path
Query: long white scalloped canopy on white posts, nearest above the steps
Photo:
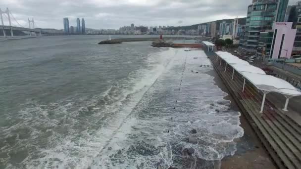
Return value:
M 247 79 L 263 92 L 263 100 L 261 104 L 260 113 L 263 112 L 266 94 L 268 94 L 269 92 L 278 92 L 286 97 L 286 103 L 283 109 L 284 111 L 288 111 L 287 108 L 290 98 L 295 96 L 301 96 L 301 91 L 298 88 L 294 87 L 292 84 L 274 76 L 266 75 L 263 70 L 251 66 L 248 62 L 246 63 L 246 61 L 232 55 L 231 53 L 218 51 L 216 52 L 216 54 L 217 60 L 218 56 L 221 58 L 221 60 L 225 60 L 225 71 L 227 69 L 227 64 L 230 64 L 233 67 L 232 80 L 234 76 L 234 69 L 244 76 L 243 91 L 245 89 Z

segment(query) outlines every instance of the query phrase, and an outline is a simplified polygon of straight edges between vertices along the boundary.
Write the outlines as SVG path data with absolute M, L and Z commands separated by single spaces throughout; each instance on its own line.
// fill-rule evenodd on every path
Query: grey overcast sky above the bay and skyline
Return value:
M 20 25 L 28 27 L 34 17 L 41 28 L 63 28 L 63 18 L 76 25 L 85 18 L 86 27 L 118 29 L 124 25 L 183 26 L 218 19 L 245 17 L 252 0 L 0 0 Z M 290 0 L 290 4 L 298 0 Z M 6 21 L 6 17 L 4 17 Z M 18 25 L 13 21 L 13 25 Z

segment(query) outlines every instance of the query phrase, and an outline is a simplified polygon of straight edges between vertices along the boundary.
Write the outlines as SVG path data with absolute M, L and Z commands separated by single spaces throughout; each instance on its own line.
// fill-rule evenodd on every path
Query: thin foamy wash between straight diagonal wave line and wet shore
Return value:
M 200 160 L 212 162 L 203 163 L 203 167 L 216 167 L 219 165 L 214 161 L 235 153 L 233 140 L 244 133 L 240 113 L 218 104 L 227 102 L 223 100 L 227 94 L 205 74 L 212 66 L 202 51 L 175 50 L 169 69 L 148 89 L 93 160 L 92 169 L 199 169 Z M 193 134 L 193 128 L 198 132 Z M 198 139 L 198 144 L 189 143 L 191 136 Z M 187 158 L 183 153 L 186 148 L 193 148 L 195 154 Z

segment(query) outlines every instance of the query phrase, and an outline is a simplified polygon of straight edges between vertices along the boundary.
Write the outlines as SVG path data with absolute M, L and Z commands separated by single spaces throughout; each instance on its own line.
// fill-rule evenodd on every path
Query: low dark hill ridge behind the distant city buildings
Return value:
M 211 21 L 211 22 L 216 22 L 216 30 L 219 30 L 219 24 L 221 22 L 226 22 L 226 23 L 231 23 L 234 19 L 221 19 L 221 20 L 216 20 L 216 21 Z M 238 23 L 241 25 L 246 25 L 246 20 L 247 18 L 238 18 Z M 175 31 L 184 29 L 184 30 L 190 30 L 190 29 L 198 29 L 199 25 L 206 25 L 207 23 L 211 23 L 211 22 L 205 22 L 205 23 L 200 23 L 200 24 L 195 24 L 195 25 L 190 25 L 190 26 L 176 26 L 176 27 L 169 27 L 168 29 L 172 30 L 174 29 Z

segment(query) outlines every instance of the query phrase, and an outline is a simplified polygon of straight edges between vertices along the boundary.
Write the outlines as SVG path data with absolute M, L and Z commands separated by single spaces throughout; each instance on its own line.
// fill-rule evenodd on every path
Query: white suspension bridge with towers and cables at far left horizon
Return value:
M 8 8 L 6 8 L 5 10 L 1 10 L 0 8 L 0 18 L 0 30 L 2 30 L 4 38 L 7 37 L 7 33 L 10 34 L 10 37 L 14 37 L 13 31 L 28 32 L 30 36 L 42 36 L 42 33 L 44 35 L 51 35 L 51 33 L 43 32 L 41 31 L 41 29 L 35 28 L 37 24 L 35 23 L 34 18 L 32 18 L 31 20 L 28 18 L 28 27 L 21 25 Z M 8 21 L 9 25 L 4 25 L 4 19 Z M 17 25 L 14 25 L 12 21 L 14 21 L 14 23 L 16 23 Z

